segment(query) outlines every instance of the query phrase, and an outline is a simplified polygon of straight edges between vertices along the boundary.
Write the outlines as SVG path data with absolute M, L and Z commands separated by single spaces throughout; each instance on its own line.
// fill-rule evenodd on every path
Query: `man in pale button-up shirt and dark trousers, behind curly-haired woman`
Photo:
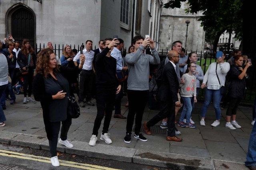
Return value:
M 91 49 L 92 49 L 92 41 L 87 40 L 85 49 L 82 51 L 84 53 L 86 60 L 84 61 L 82 72 L 80 74 L 80 88 L 79 88 L 79 96 L 78 96 L 79 98 L 78 102 L 80 107 L 85 107 L 85 104 L 89 106 L 94 106 L 91 100 L 92 100 L 92 86 L 93 86 L 95 69 L 92 63 L 94 58 L 94 52 Z M 77 61 L 79 60 L 80 54 L 81 54 L 81 50 L 77 53 L 77 55 L 73 59 L 75 66 L 77 66 Z M 85 102 L 84 102 L 84 98 L 86 98 Z

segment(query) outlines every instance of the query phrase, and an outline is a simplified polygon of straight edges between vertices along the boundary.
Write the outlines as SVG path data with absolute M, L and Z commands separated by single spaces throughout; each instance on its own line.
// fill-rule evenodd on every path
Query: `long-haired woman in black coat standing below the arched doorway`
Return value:
M 28 39 L 24 39 L 22 41 L 22 47 L 20 49 L 20 52 L 18 53 L 17 63 L 19 64 L 20 68 L 22 68 L 22 70 L 28 69 L 28 73 L 22 75 L 24 83 L 23 103 L 26 104 L 27 102 L 35 102 L 31 98 L 31 93 L 32 82 L 34 78 L 34 69 L 36 68 L 36 54 L 34 53 L 34 49 L 30 45 L 30 41 Z

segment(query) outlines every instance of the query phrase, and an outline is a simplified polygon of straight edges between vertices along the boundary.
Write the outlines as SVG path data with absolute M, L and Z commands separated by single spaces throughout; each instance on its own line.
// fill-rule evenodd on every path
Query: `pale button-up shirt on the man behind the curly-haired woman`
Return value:
M 83 65 L 83 70 L 92 70 L 92 61 L 94 58 L 94 52 L 90 50 L 89 52 L 84 49 L 83 50 L 84 56 L 85 56 L 85 61 Z M 76 57 L 74 57 L 73 61 L 78 61 L 80 59 L 80 51 L 76 54 Z

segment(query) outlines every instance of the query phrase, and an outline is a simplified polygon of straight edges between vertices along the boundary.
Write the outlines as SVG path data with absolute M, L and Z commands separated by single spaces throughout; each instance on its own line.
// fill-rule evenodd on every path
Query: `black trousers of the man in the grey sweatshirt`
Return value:
M 127 90 L 129 96 L 129 112 L 127 116 L 126 134 L 132 134 L 132 126 L 135 118 L 135 134 L 138 135 L 141 129 L 142 116 L 148 102 L 148 90 Z

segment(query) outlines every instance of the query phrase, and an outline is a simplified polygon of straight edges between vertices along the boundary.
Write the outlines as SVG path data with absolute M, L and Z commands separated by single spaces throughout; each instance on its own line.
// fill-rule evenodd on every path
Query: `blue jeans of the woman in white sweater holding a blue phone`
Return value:
M 212 90 L 206 87 L 205 96 L 204 96 L 204 104 L 202 106 L 201 117 L 205 117 L 206 111 L 212 101 L 213 98 L 213 106 L 215 110 L 216 120 L 220 120 L 220 100 L 222 95 L 220 94 L 220 89 Z

